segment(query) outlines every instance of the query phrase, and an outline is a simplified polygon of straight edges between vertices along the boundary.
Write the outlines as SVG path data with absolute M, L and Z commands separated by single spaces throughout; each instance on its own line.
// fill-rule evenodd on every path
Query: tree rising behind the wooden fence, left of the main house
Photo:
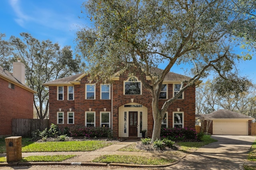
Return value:
M 0 64 L 11 71 L 12 61 L 21 59 L 25 64 L 26 85 L 37 92 L 34 94 L 34 107 L 38 118 L 44 119 L 49 102 L 48 89 L 43 83 L 79 72 L 81 61 L 79 57 L 73 59 L 70 46 L 61 48 L 58 43 L 39 41 L 29 33 L 20 33 L 20 36 L 22 39 L 14 36 L 9 40 L 0 39 L 0 44 L 5 45 L 0 47 L 5 50 L 0 54 L 3 56 Z

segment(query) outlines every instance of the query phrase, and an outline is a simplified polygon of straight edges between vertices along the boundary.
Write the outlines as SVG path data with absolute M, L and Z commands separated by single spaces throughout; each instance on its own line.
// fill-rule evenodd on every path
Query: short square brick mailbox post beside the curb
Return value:
M 7 162 L 18 162 L 19 160 L 21 160 L 21 139 L 21 136 L 5 138 Z

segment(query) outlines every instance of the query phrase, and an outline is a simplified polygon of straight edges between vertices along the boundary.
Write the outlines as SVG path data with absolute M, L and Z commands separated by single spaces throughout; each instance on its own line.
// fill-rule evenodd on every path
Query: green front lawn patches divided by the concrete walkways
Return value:
M 180 149 L 172 152 L 164 152 L 166 154 L 184 154 L 190 153 L 194 150 L 215 142 L 216 140 L 210 138 L 210 135 L 205 135 L 202 142 L 178 142 Z M 109 141 L 66 141 L 66 142 L 31 142 L 29 138 L 22 138 L 22 152 L 58 152 L 58 151 L 91 151 L 102 147 L 112 145 Z M 136 148 L 135 145 L 129 145 L 122 151 L 142 152 Z M 0 152 L 6 152 L 4 139 L 0 139 Z M 144 151 L 145 152 L 145 151 Z M 29 156 L 22 158 L 21 161 L 63 161 L 71 158 L 74 155 L 54 155 L 54 156 Z M 128 164 L 145 164 L 145 165 L 160 165 L 170 164 L 176 160 L 166 160 L 162 158 L 151 158 L 144 156 L 126 156 L 126 155 L 104 155 L 93 160 L 93 162 L 107 162 L 107 163 L 128 163 Z M 0 157 L 0 162 L 6 162 L 6 158 Z

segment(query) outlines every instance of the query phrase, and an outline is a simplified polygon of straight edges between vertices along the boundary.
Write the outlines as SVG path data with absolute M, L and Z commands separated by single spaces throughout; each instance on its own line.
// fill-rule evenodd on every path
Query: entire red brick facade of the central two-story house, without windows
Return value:
M 139 76 L 137 75 L 139 78 Z M 142 86 L 142 95 L 124 95 L 124 81 L 127 80 L 127 76 L 121 75 L 119 80 L 115 80 L 112 83 L 113 88 L 113 135 L 118 137 L 118 107 L 123 104 L 131 102 L 131 98 L 134 98 L 134 102 L 142 104 L 148 107 L 148 137 L 152 136 L 153 131 L 153 116 L 152 116 L 152 97 L 148 90 Z M 67 111 L 69 108 L 73 108 L 75 125 L 85 126 L 85 111 L 89 111 L 88 108 L 92 108 L 92 111 L 96 112 L 96 126 L 100 125 L 100 111 L 104 111 L 103 108 L 106 107 L 106 111 L 111 111 L 111 100 L 100 100 L 100 83 L 96 84 L 96 100 L 85 100 L 85 84 L 89 82 L 86 81 L 86 77 L 81 79 L 80 85 L 75 85 L 75 100 L 67 100 L 67 86 L 64 86 L 64 101 L 57 100 L 57 87 L 49 87 L 49 118 L 50 123 L 57 123 L 57 111 L 62 108 L 64 111 L 64 124 L 58 127 L 70 127 L 74 125 L 67 124 Z M 172 97 L 172 84 L 168 84 L 168 98 Z M 159 107 L 166 100 L 159 100 Z M 184 111 L 184 127 L 195 128 L 195 88 L 190 87 L 184 92 L 184 99 L 176 100 L 174 104 L 168 107 L 168 127 L 172 127 L 172 112 Z

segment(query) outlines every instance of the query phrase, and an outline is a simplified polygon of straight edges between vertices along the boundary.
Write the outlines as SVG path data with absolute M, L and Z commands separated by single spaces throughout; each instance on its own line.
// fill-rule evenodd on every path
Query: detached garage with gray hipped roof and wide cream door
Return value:
M 204 117 L 212 120 L 209 133 L 213 135 L 251 135 L 252 117 L 226 109 L 214 111 Z

